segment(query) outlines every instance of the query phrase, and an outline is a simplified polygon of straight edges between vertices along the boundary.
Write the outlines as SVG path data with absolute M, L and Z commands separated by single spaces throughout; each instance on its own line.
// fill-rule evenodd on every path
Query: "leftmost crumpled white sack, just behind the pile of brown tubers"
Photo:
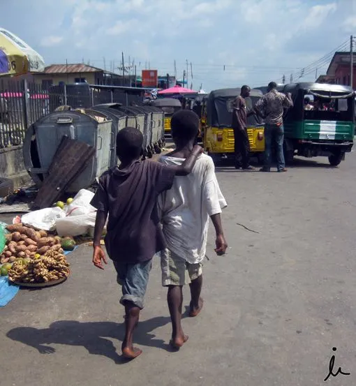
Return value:
M 63 209 L 53 207 L 30 211 L 22 216 L 21 221 L 24 225 L 31 225 L 37 229 L 55 230 L 56 221 L 65 216 L 66 212 Z

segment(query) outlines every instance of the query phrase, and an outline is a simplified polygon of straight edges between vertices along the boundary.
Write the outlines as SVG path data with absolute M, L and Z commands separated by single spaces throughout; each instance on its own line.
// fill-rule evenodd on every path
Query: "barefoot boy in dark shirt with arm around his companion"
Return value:
M 171 188 L 175 175 L 188 175 L 203 151 L 195 146 L 182 165 L 165 166 L 152 161 L 140 162 L 142 133 L 126 127 L 117 134 L 119 167 L 107 170 L 99 179 L 91 205 L 98 209 L 94 230 L 94 265 L 107 264 L 100 239 L 107 218 L 105 247 L 122 285 L 120 303 L 125 306 L 126 334 L 121 349 L 124 357 L 135 358 L 142 350 L 133 347 L 133 330 L 140 310 L 154 254 L 165 248 L 159 226 L 156 199 Z

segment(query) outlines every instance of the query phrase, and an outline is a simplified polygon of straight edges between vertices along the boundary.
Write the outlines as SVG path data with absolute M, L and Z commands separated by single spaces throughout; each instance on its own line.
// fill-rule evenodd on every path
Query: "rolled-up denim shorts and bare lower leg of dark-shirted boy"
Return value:
M 125 306 L 125 337 L 121 345 L 124 357 L 135 358 L 142 350 L 133 347 L 133 331 L 138 324 L 140 310 L 144 306 L 149 272 L 152 260 L 137 264 L 120 264 L 114 262 L 118 274 L 118 282 L 122 285 L 122 297 L 120 303 Z

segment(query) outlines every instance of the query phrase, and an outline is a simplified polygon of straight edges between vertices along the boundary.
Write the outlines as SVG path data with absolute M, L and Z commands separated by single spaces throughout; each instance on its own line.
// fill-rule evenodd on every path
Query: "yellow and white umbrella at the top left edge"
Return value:
M 0 28 L 0 75 L 22 75 L 42 72 L 45 61 L 27 43 Z

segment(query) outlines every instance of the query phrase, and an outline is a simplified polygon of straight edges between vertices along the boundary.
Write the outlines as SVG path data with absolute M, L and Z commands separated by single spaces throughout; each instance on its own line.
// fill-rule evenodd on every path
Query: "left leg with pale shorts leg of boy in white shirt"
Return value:
M 162 284 L 168 287 L 167 302 L 172 320 L 171 346 L 180 348 L 188 340 L 181 327 L 182 286 L 186 281 L 186 261 L 168 249 L 161 252 Z

